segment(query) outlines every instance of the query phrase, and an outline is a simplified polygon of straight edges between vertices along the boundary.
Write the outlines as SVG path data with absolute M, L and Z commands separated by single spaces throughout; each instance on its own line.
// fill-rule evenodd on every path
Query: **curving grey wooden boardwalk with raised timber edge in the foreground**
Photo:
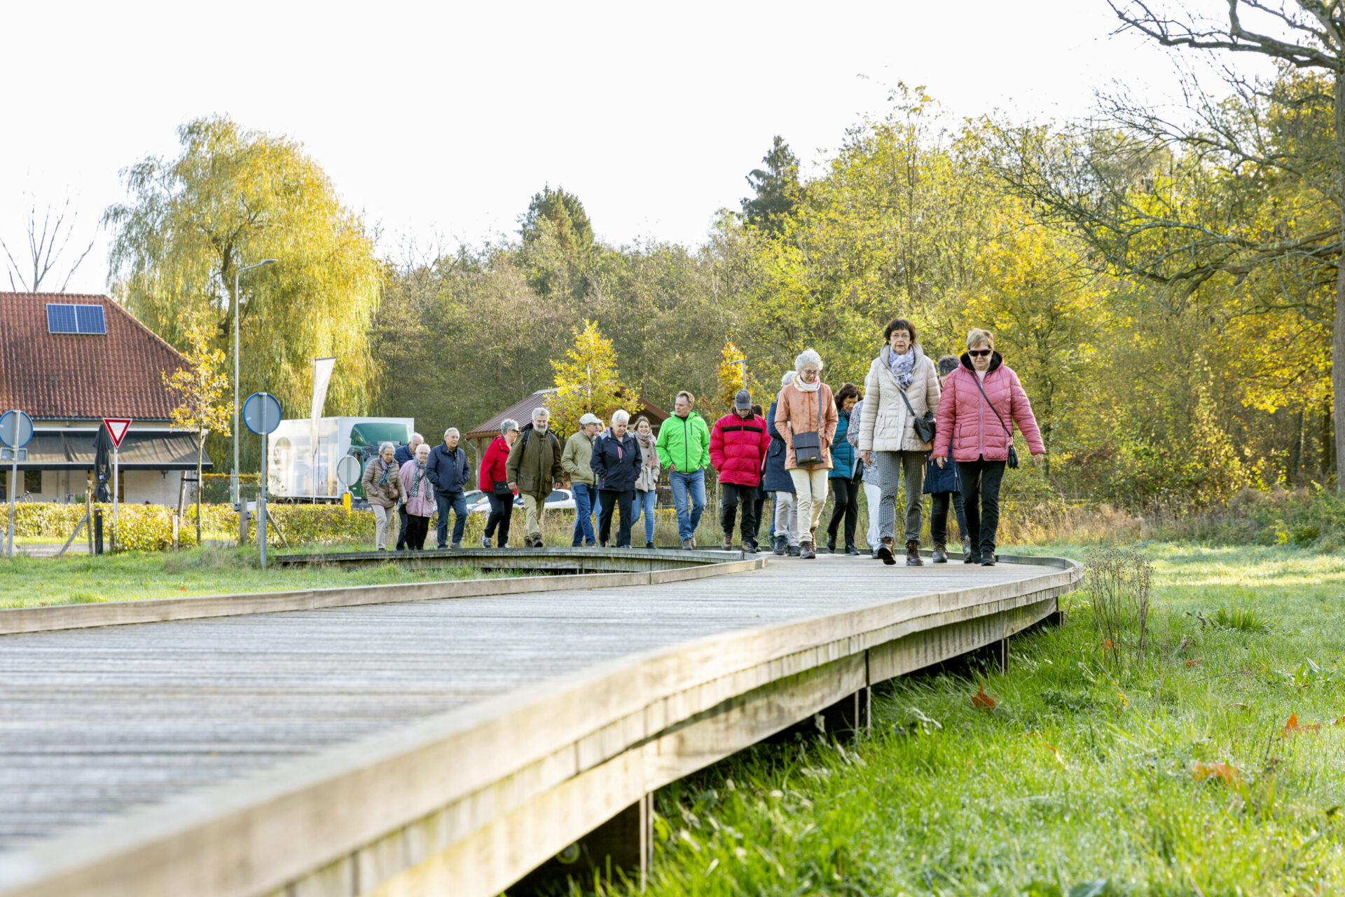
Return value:
M 667 781 L 1021 631 L 1077 581 L 1054 559 L 824 555 L 0 636 L 0 896 L 491 894 Z

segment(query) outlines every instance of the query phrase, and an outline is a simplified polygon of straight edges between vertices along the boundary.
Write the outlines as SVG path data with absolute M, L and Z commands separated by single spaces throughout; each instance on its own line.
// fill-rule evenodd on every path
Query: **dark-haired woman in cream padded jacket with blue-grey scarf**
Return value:
M 904 317 L 888 321 L 882 348 L 863 378 L 859 455 L 878 468 L 878 557 L 896 563 L 897 492 L 907 490 L 907 566 L 921 566 L 920 518 L 924 465 L 929 456 L 933 412 L 939 409 L 939 374 L 916 342 L 916 327 Z M 869 508 L 873 514 L 873 508 Z

